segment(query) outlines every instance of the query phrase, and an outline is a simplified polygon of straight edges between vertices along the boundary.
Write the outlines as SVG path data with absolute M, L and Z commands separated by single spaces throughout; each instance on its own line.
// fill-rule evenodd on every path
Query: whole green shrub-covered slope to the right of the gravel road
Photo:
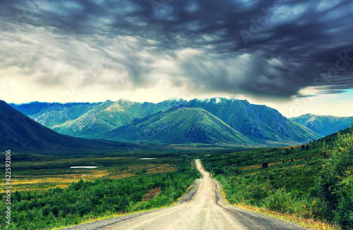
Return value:
M 353 229 L 353 134 L 205 157 L 227 200 Z

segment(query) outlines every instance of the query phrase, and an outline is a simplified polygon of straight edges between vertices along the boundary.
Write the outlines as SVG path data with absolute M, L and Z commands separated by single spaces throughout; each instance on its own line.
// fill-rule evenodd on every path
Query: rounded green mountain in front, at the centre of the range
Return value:
M 97 137 L 120 141 L 253 145 L 246 136 L 202 108 L 173 107 L 163 113 L 132 120 Z

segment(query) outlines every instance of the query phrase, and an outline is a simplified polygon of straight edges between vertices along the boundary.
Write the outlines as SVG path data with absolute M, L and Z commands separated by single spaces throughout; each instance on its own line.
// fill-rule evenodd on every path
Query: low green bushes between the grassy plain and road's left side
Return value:
M 6 219 L 2 218 L 0 228 L 51 229 L 112 214 L 171 205 L 200 174 L 186 158 L 169 158 L 169 162 L 174 162 L 171 172 L 149 173 L 148 170 L 141 170 L 137 162 L 136 173 L 131 177 L 106 177 L 94 181 L 80 179 L 66 189 L 55 187 L 39 194 L 16 191 L 11 204 L 12 224 L 7 226 Z M 4 213 L 5 196 L 1 194 L 0 199 L 1 213 Z

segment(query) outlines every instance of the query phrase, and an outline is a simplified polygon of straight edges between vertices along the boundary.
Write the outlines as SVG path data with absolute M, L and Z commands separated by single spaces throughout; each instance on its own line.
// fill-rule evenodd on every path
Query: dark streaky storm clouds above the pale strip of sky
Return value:
M 52 73 L 52 79 L 37 78 L 43 84 L 60 84 L 67 72 L 80 71 L 90 75 L 82 84 L 118 88 L 150 87 L 160 77 L 177 87 L 196 83 L 199 93 L 290 97 L 302 96 L 299 91 L 306 87 L 325 87 L 328 94 L 353 88 L 350 0 L 19 0 L 1 5 L 3 42 L 16 39 L 12 50 L 24 51 L 16 58 L 1 49 L 2 68 L 45 72 L 43 56 L 72 67 Z M 36 33 L 41 35 L 26 39 Z M 119 79 L 98 77 L 103 70 Z

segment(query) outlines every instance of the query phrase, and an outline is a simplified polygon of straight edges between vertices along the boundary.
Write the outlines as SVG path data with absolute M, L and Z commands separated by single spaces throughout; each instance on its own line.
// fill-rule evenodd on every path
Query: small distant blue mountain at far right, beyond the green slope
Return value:
M 290 119 L 303 124 L 305 127 L 313 130 L 313 132 L 326 136 L 328 134 L 338 132 L 341 129 L 347 129 L 349 124 L 352 123 L 352 118 L 353 117 L 313 115 L 308 113 L 301 115 L 300 117 L 292 117 Z

